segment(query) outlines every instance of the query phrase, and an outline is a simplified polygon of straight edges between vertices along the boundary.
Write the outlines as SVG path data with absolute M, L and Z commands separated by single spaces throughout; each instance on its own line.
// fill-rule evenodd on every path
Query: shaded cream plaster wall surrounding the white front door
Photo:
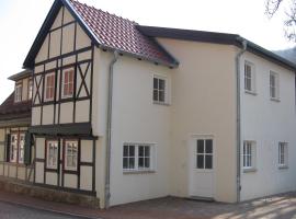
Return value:
M 180 61 L 172 72 L 171 195 L 187 197 L 192 135 L 214 136 L 214 198 L 236 201 L 236 49 L 158 38 Z

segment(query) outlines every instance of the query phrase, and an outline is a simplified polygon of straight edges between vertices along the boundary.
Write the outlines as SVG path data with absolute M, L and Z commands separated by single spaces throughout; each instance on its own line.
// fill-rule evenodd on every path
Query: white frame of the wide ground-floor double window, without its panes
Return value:
M 126 147 L 134 147 L 134 157 L 125 155 L 124 154 L 124 148 Z M 139 148 L 141 147 L 149 147 L 149 157 L 146 154 L 139 155 Z M 122 152 L 122 168 L 123 172 L 128 173 L 128 172 L 155 172 L 156 171 L 156 145 L 155 143 L 132 143 L 132 142 L 125 142 L 123 143 L 123 152 Z M 149 160 L 149 166 L 139 166 L 139 159 L 145 158 Z M 134 168 L 125 168 L 124 166 L 124 159 L 134 159 Z

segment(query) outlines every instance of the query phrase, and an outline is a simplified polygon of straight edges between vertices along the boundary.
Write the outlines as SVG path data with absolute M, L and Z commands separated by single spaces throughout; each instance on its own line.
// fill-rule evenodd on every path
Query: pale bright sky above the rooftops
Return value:
M 79 0 L 141 25 L 240 34 L 270 50 L 291 48 L 283 22 L 289 0 L 271 20 L 265 0 Z M 14 89 L 7 80 L 23 61 L 54 0 L 0 0 L 0 103 Z

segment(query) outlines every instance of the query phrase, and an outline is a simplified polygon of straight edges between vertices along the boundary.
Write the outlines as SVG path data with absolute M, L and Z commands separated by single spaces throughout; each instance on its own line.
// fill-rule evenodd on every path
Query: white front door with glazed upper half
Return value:
M 214 139 L 195 137 L 190 143 L 190 196 L 214 198 Z

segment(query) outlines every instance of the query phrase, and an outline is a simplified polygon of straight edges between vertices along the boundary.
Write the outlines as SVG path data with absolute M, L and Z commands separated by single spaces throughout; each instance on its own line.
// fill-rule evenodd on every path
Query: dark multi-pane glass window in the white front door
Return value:
M 196 141 L 196 169 L 213 169 L 213 139 Z

